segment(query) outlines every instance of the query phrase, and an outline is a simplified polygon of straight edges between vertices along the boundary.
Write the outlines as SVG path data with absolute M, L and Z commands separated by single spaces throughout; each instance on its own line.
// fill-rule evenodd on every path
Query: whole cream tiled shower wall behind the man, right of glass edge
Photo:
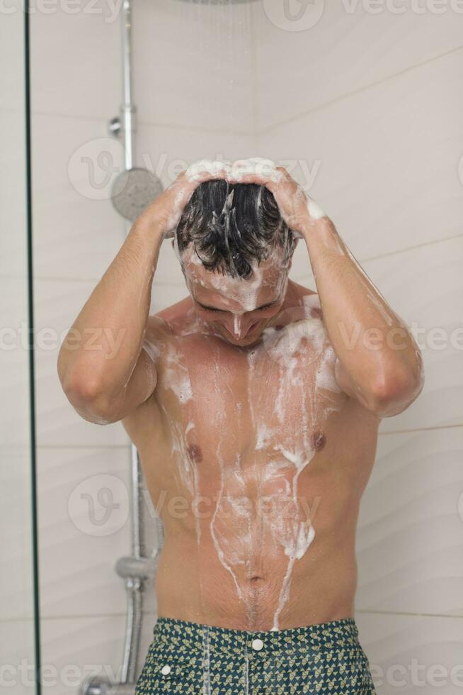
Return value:
M 428 331 L 448 331 L 461 321 L 463 18 L 343 7 L 326 4 L 314 26 L 290 31 L 268 0 L 252 9 L 136 2 L 137 164 L 165 185 L 198 157 L 293 160 L 302 183 L 308 168 L 311 194 L 396 311 Z M 39 328 L 57 333 L 125 233 L 107 197 L 82 186 L 75 154 L 94 140 L 91 152 L 105 148 L 98 138 L 120 104 L 120 26 L 107 19 L 33 17 L 35 313 Z M 302 247 L 292 275 L 313 283 Z M 152 311 L 183 296 L 163 245 Z M 358 622 L 383 669 L 413 658 L 427 667 L 461 660 L 460 354 L 426 349 L 421 399 L 382 425 L 358 536 Z M 128 485 L 127 438 L 119 425 L 76 416 L 56 358 L 57 347 L 38 350 L 42 659 L 117 673 L 125 591 L 113 565 L 129 551 L 129 526 L 122 520 L 108 535 L 92 535 L 74 503 L 80 491 L 96 494 L 102 479 L 94 477 L 103 475 L 126 508 L 118 480 Z M 145 651 L 153 598 L 146 611 Z M 76 692 L 77 683 L 46 691 Z M 410 689 L 408 679 L 401 691 Z M 397 688 L 385 682 L 378 691 Z

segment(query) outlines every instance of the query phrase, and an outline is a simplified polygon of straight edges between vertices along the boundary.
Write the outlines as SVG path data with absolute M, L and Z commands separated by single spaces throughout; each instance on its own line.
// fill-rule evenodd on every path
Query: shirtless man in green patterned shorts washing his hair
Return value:
M 149 316 L 166 237 L 189 294 Z M 288 279 L 297 243 L 317 292 Z M 81 416 L 122 420 L 160 503 L 159 618 L 137 693 L 373 693 L 355 526 L 379 422 L 418 396 L 421 355 L 285 169 L 183 172 L 132 226 L 59 377 Z

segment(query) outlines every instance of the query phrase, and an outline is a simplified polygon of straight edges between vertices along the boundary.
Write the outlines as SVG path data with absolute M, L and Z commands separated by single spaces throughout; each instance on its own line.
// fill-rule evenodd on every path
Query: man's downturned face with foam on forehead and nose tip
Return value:
M 253 266 L 250 279 L 207 270 L 193 246 L 185 250 L 182 267 L 196 313 L 231 345 L 257 343 L 285 301 L 289 266 L 280 248 Z

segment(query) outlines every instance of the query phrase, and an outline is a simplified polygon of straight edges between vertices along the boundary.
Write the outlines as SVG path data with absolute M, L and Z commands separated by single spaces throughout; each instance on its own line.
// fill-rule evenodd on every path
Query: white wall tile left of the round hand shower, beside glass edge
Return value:
M 103 121 L 34 115 L 32 163 L 35 276 L 101 277 L 125 234 L 110 201 L 120 144 Z

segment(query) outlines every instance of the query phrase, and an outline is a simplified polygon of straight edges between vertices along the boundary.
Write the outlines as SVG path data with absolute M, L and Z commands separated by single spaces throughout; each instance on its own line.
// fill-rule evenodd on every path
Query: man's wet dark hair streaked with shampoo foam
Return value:
M 259 184 L 229 184 L 224 179 L 203 182 L 185 206 L 177 230 L 178 250 L 193 244 L 208 270 L 248 278 L 280 246 L 287 263 L 295 236 L 275 198 Z

